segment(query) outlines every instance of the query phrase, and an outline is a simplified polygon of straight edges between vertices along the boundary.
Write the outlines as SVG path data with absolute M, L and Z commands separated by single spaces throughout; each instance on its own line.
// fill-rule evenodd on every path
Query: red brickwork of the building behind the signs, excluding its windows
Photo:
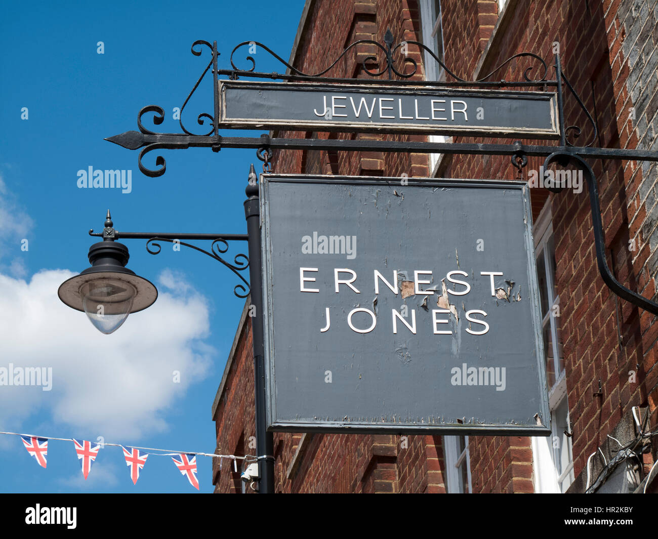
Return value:
M 623 2 L 623 0 L 622 0 Z M 612 7 L 611 7 L 612 5 Z M 501 27 L 502 39 L 492 43 L 497 22 L 494 0 L 443 0 L 445 63 L 463 78 L 472 79 L 481 63 L 484 76 L 505 59 L 522 51 L 532 51 L 553 63 L 553 45 L 560 47 L 563 69 L 572 86 L 592 112 L 599 129 L 595 146 L 634 147 L 636 129 L 629 120 L 628 74 L 632 72 L 624 57 L 624 25 L 617 20 L 619 0 L 602 3 L 585 0 L 526 1 L 509 0 L 509 19 Z M 324 70 L 340 56 L 345 46 L 357 39 L 383 43 L 390 28 L 394 42 L 422 41 L 418 6 L 414 0 L 352 1 L 318 0 L 309 13 L 295 67 L 303 72 Z M 651 36 L 658 36 L 658 31 Z M 652 38 L 653 39 L 653 38 Z M 488 47 L 488 48 L 487 48 Z M 410 47 L 409 55 L 418 63 L 416 78 L 423 77 L 420 52 Z M 370 55 L 381 55 L 376 47 L 351 50 L 336 63 L 327 76 L 365 78 L 361 62 Z M 530 65 L 530 76 L 538 76 L 538 63 L 513 61 L 490 80 L 520 80 Z M 375 68 L 374 64 L 369 64 Z M 554 78 L 549 68 L 547 78 Z M 655 88 L 655 83 L 653 83 Z M 566 90 L 566 89 L 565 89 Z M 568 91 L 567 91 L 568 92 Z M 658 98 L 657 98 L 658 99 Z M 583 126 L 576 145 L 592 138 L 586 116 L 572 95 L 565 94 L 568 124 Z M 658 130 L 657 130 L 658 131 Z M 280 132 L 276 136 L 304 136 Z M 367 138 L 374 134 L 307 133 L 307 137 Z M 393 140 L 424 140 L 412 136 L 390 136 Z M 474 141 L 455 138 L 455 141 Z M 501 140 L 482 140 L 501 142 Z M 509 140 L 505 140 L 509 142 Z M 523 141 L 523 143 L 534 143 Z M 529 158 L 522 173 L 538 170 L 543 160 Z M 642 172 L 636 163 L 591 161 L 598 178 L 601 211 L 606 235 L 609 265 L 620 282 L 631 290 L 655 295 L 652 267 L 647 261 L 655 250 L 645 237 L 651 217 L 638 194 Z M 278 151 L 274 154 L 276 172 L 325 174 L 363 174 L 428 176 L 428 159 L 420 154 L 380 152 Z M 655 170 L 655 169 L 654 169 Z M 439 175 L 452 178 L 519 178 L 509 157 L 446 155 Z M 646 175 L 646 174 L 645 174 Z M 531 190 L 536 218 L 548 193 Z M 559 325 L 567 373 L 567 390 L 573 432 L 574 472 L 584 469 L 593 453 L 632 405 L 649 405 L 655 411 L 658 401 L 655 346 L 658 324 L 653 317 L 619 299 L 619 346 L 615 296 L 597 273 L 592 220 L 587 188 L 574 194 L 570 190 L 553 195 L 553 231 L 557 261 L 557 288 L 560 296 Z M 644 228 L 643 228 L 644 226 Z M 629 240 L 637 241 L 637 251 L 629 251 Z M 654 271 L 655 273 L 655 271 Z M 637 276 L 637 278 L 636 278 Z M 636 367 L 636 364 L 639 367 Z M 637 371 L 631 383 L 628 371 Z M 595 397 L 599 378 L 603 397 Z M 216 414 L 218 450 L 236 450 L 253 436 L 253 365 L 251 334 L 245 330 L 235 365 L 226 384 Z M 655 414 L 654 414 L 655 416 Z M 655 419 L 652 420 L 655 424 Z M 307 436 L 302 444 L 303 457 L 295 459 L 300 434 L 275 434 L 275 483 L 278 492 L 445 492 L 445 462 L 440 437 L 408 436 L 401 444 L 399 436 L 321 435 Z M 529 438 L 471 436 L 470 464 L 474 492 L 533 492 L 532 451 Z M 405 448 L 403 448 L 403 445 Z M 248 449 L 245 449 L 248 452 Z M 295 466 L 291 466 L 295 460 Z M 233 476 L 224 470 L 215 475 L 216 490 L 230 492 Z M 215 471 L 216 474 L 216 471 Z

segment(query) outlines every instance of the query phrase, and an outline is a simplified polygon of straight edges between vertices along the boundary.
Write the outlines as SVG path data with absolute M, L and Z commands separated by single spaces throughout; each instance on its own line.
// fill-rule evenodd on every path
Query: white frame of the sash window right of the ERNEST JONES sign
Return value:
M 547 321 L 546 317 L 550 317 L 551 324 L 551 339 L 553 346 L 553 365 L 556 380 L 551 388 L 548 388 L 549 396 L 549 410 L 551 413 L 551 436 L 549 437 L 532 437 L 532 470 L 534 478 L 534 491 L 536 493 L 560 493 L 567 490 L 569 485 L 574 481 L 573 471 L 573 449 L 570 436 L 565 432 L 557 432 L 557 411 L 559 405 L 563 404 L 567 399 L 567 377 L 565 370 L 560 370 L 559 356 L 561 350 L 559 348 L 559 336 L 557 330 L 557 321 L 553 317 L 553 307 L 559 306 L 559 295 L 554 296 L 554 278 L 555 276 L 549 270 L 551 267 L 549 253 L 546 247 L 549 245 L 549 240 L 553 236 L 553 216 L 551 214 L 551 202 L 553 195 L 549 195 L 544 204 L 544 208 L 540 212 L 536 223 L 534 224 L 534 240 L 535 252 L 542 252 L 544 255 L 544 269 L 546 272 L 546 297 L 549 305 L 548 312 L 542 319 L 542 336 L 544 334 L 544 325 Z M 553 248 L 555 244 L 553 244 Z M 559 312 L 559 311 L 558 311 Z M 548 380 L 547 380 L 548 382 Z M 567 405 L 567 417 L 565 420 L 567 430 L 570 434 L 570 419 L 569 419 L 569 406 Z M 554 448 L 557 443 L 557 448 Z M 562 473 L 559 473 L 555 465 L 555 451 L 561 451 L 561 462 L 567 462 Z M 563 482 L 565 483 L 563 485 Z

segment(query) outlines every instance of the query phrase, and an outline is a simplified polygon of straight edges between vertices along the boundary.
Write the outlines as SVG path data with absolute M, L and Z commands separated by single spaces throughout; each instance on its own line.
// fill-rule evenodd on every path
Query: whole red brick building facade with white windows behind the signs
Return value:
M 483 78 L 522 51 L 547 64 L 559 51 L 563 70 L 597 125 L 599 147 L 656 149 L 658 138 L 658 5 L 647 0 L 307 0 L 290 63 L 324 70 L 359 39 L 420 41 L 455 74 Z M 363 46 L 327 76 L 367 78 L 362 63 L 378 53 Z M 417 80 L 450 80 L 418 47 L 408 57 Z M 540 64 L 512 61 L 489 80 L 541 76 Z M 374 64 L 373 64 L 374 66 Z M 549 67 L 547 78 L 554 77 Z M 594 130 L 565 94 L 569 125 Z M 376 134 L 277 132 L 307 138 L 380 138 Z M 575 134 L 574 130 L 570 135 Z M 389 135 L 395 140 L 426 140 Z M 432 140 L 438 140 L 432 137 Z M 446 141 L 451 139 L 447 138 Z M 453 141 L 501 142 L 455 137 Z M 509 140 L 503 141 L 509 143 Z M 523 141 L 530 143 L 530 141 Z M 278 151 L 282 173 L 442 178 L 528 179 L 543 158 L 521 171 L 509 157 L 417 153 Z M 656 299 L 658 208 L 653 163 L 590 161 L 599 182 L 608 264 L 619 282 Z M 520 176 L 521 174 L 521 176 Z M 392 436 L 274 434 L 276 492 L 584 492 L 621 445 L 657 424 L 658 324 L 617 298 L 601 280 L 586 186 L 582 191 L 530 190 L 553 436 Z M 217 451 L 255 451 L 253 353 L 249 301 L 213 403 Z M 600 390 L 599 390 L 599 380 Z M 647 440 L 650 440 L 647 438 Z M 645 444 L 648 444 L 645 440 Z M 653 448 L 636 449 L 600 487 L 644 489 Z M 603 458 L 601 458 L 603 457 Z M 640 462 L 642 460 L 642 462 Z M 213 469 L 215 492 L 241 492 L 240 473 Z M 647 492 L 656 490 L 653 481 Z M 597 486 L 599 488 L 599 486 Z

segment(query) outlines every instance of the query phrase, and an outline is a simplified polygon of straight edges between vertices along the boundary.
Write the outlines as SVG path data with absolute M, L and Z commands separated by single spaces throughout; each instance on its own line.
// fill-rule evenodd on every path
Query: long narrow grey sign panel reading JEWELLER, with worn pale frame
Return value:
M 220 128 L 558 138 L 555 93 L 220 83 Z

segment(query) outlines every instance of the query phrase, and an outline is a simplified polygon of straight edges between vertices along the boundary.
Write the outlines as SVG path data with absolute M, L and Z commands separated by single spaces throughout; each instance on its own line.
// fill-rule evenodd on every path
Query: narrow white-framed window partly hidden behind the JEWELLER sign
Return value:
M 443 62 L 443 26 L 440 0 L 420 0 L 420 28 L 422 44 Z M 423 51 L 425 80 L 445 80 L 445 70 L 427 51 Z M 442 135 L 430 135 L 430 142 L 445 142 Z M 430 153 L 430 176 L 434 176 L 441 158 L 440 153 Z

